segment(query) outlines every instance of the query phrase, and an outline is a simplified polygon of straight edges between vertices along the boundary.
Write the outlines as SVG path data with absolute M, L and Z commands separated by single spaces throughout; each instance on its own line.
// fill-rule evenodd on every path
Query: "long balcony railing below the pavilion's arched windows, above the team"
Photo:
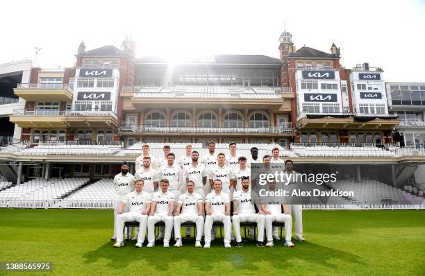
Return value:
M 292 133 L 292 123 L 280 123 L 278 125 L 263 126 L 258 128 L 204 128 L 198 126 L 174 127 L 174 126 L 144 126 L 132 121 L 123 121 L 119 126 L 120 132 L 160 132 L 160 133 Z

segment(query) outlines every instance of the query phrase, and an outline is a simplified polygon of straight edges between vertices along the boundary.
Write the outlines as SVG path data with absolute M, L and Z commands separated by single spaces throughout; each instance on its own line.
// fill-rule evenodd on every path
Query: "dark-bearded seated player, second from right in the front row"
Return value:
M 240 236 L 240 223 L 255 222 L 258 228 L 257 246 L 262 248 L 264 241 L 264 223 L 265 216 L 262 209 L 256 214 L 254 202 L 251 202 L 251 191 L 249 191 L 249 178 L 242 177 L 242 189 L 233 194 L 233 230 L 235 230 L 236 247 L 242 247 L 242 238 Z

